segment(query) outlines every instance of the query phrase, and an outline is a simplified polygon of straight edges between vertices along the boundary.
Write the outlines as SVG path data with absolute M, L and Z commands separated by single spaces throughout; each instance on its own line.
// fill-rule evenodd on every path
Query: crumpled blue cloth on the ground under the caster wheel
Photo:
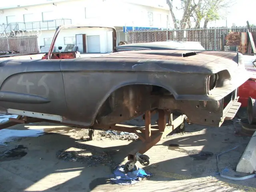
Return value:
M 110 176 L 110 180 L 119 185 L 131 185 L 139 182 L 142 178 L 151 176 L 152 174 L 147 173 L 141 168 L 132 172 L 125 173 L 124 166 L 118 166 L 114 173 Z

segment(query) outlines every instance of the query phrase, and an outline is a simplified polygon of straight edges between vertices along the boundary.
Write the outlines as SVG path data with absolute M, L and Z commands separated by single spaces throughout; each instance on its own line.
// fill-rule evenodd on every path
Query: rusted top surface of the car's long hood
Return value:
M 216 73 L 221 70 L 235 70 L 238 66 L 238 53 L 221 51 L 196 51 L 197 55 L 183 57 L 193 50 L 137 50 L 116 52 L 90 61 L 104 60 L 122 64 L 122 70 L 170 71 Z M 112 65 L 108 65 L 110 69 Z M 116 69 L 118 67 L 116 66 Z

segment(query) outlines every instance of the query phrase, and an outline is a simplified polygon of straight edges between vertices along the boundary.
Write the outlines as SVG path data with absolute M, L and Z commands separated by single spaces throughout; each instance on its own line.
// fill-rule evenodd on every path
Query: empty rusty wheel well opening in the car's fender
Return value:
M 114 90 L 100 107 L 97 122 L 104 124 L 120 123 L 144 114 L 154 108 L 156 103 L 150 96 L 170 95 L 170 91 L 161 86 L 132 84 Z

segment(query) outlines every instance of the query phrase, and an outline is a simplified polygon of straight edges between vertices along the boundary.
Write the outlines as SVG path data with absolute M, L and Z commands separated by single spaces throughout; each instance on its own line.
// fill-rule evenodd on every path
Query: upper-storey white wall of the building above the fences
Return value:
M 24 22 L 24 14 L 31 14 L 30 21 L 42 21 L 42 13 L 48 12 L 52 20 L 71 19 L 72 23 L 101 22 L 112 26 L 141 26 L 141 27 L 167 27 L 167 15 L 169 10 L 131 4 L 118 0 L 72 0 L 26 6 L 20 8 L 3 9 L 0 12 L 0 24 L 6 24 L 7 16 L 15 16 L 16 22 Z M 51 13 L 52 12 L 52 13 Z M 148 12 L 153 13 L 153 25 L 150 25 Z M 87 17 L 86 17 L 87 13 Z M 160 14 L 162 22 L 157 19 Z M 49 17 L 47 17 L 50 20 Z M 13 19 L 12 19 L 13 21 Z

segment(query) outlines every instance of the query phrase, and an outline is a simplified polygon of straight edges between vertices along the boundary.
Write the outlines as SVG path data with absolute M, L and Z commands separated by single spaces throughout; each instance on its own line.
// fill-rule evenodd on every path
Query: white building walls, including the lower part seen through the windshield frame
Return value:
M 144 0 L 143 5 L 143 3 L 136 4 L 136 0 L 130 0 L 130 2 L 129 0 L 66 0 L 56 2 L 54 5 L 20 6 L 0 10 L 0 25 L 7 23 L 6 18 L 8 16 L 14 16 L 10 18 L 12 22 L 20 23 L 71 19 L 72 24 L 170 28 L 167 19 L 170 15 L 169 10 L 152 6 L 152 4 L 145 6 L 149 1 Z M 152 16 L 151 20 L 150 15 Z M 51 24 L 53 23 L 54 21 L 51 22 Z M 3 29 L 0 26 L 1 30 Z M 37 30 L 37 28 L 34 27 L 34 30 Z M 66 47 L 64 37 L 75 37 L 76 34 L 85 33 L 87 36 L 100 35 L 100 52 L 110 52 L 112 50 L 112 33 L 107 33 L 106 30 L 92 28 L 62 30 L 58 36 L 56 47 L 62 46 L 63 49 Z M 38 34 L 39 46 L 44 46 L 44 38 L 52 38 L 54 32 L 55 28 L 46 28 L 30 34 Z M 117 32 L 117 44 L 120 40 L 125 40 L 123 32 Z

